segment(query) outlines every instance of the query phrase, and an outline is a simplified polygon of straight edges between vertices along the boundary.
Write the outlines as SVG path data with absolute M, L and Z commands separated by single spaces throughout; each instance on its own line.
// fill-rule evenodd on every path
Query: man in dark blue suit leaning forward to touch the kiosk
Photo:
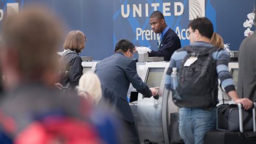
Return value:
M 142 82 L 137 74 L 136 62 L 132 59 L 134 52 L 135 46 L 130 41 L 121 39 L 116 43 L 115 54 L 102 60 L 95 69 L 102 86 L 103 101 L 127 127 L 124 131 L 128 134 L 121 132 L 121 137 L 125 139 L 123 143 L 140 143 L 133 114 L 126 100 L 130 83 L 147 98 L 156 95 L 159 89 L 148 88 L 147 84 Z

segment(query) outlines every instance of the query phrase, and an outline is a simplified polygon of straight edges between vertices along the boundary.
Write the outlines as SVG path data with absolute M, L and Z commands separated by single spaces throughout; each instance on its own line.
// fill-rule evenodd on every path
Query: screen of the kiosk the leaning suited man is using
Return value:
M 161 85 L 164 68 L 149 68 L 146 83 L 148 87 L 157 87 Z

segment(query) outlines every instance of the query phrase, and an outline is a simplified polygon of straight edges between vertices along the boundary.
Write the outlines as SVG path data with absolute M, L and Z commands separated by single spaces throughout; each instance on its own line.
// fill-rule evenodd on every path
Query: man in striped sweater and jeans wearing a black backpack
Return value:
M 173 91 L 173 102 L 179 107 L 179 132 L 188 143 L 203 143 L 207 131 L 215 129 L 218 103 L 218 78 L 235 103 L 244 109 L 252 106 L 247 98 L 239 99 L 228 70 L 229 54 L 210 44 L 213 25 L 207 18 L 190 21 L 190 45 L 175 51 L 166 72 L 165 86 Z M 178 70 L 178 86 L 171 77 Z

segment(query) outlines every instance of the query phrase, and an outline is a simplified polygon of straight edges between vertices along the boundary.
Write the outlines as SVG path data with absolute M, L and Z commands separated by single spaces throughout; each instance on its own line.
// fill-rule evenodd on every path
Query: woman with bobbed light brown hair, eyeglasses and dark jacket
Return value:
M 60 84 L 57 86 L 63 89 L 75 89 L 79 83 L 80 77 L 83 75 L 82 59 L 79 53 L 84 50 L 86 36 L 82 31 L 72 30 L 68 33 L 63 44 L 64 51 L 61 56 L 61 63 L 63 63 L 62 76 Z

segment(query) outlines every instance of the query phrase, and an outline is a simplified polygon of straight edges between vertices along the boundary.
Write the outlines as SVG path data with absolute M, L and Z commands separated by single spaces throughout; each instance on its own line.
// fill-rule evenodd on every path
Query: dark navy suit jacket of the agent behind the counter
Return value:
M 172 29 L 169 29 L 162 38 L 159 51 L 151 51 L 151 53 L 148 53 L 148 56 L 164 57 L 165 61 L 170 61 L 174 51 L 180 49 L 180 47 L 180 38 Z

